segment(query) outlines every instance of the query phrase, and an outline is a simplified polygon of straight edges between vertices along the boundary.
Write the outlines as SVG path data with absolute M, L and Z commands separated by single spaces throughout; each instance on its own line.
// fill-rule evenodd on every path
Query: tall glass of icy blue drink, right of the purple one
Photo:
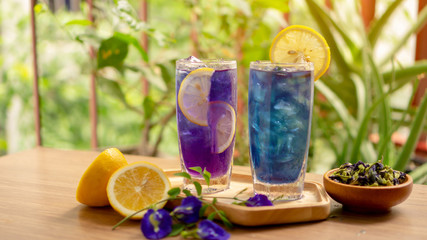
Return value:
M 249 138 L 255 193 L 302 197 L 313 108 L 313 64 L 251 62 Z

